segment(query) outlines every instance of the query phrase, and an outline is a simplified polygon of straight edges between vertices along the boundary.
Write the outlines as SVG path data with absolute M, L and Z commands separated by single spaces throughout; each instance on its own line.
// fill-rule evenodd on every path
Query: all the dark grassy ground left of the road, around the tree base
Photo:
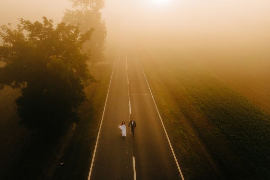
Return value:
M 67 124 L 56 131 L 33 131 L 20 124 L 15 109 L 20 92 L 10 87 L 0 91 L 0 179 L 87 178 L 114 55 L 107 53 L 107 63 L 89 64 L 100 83 L 85 88 L 89 101 L 79 107 L 79 119 L 67 117 Z

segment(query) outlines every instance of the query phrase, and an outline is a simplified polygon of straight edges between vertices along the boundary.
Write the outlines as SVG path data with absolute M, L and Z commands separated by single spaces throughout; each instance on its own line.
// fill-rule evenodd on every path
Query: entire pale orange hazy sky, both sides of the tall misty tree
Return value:
M 0 24 L 47 16 L 60 22 L 68 0 L 1 0 Z M 126 34 L 144 39 L 270 42 L 269 0 L 107 0 L 102 10 L 108 39 Z

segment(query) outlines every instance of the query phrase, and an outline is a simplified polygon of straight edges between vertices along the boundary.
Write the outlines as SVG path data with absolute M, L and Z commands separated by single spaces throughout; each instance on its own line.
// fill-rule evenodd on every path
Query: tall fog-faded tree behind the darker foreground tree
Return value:
M 104 59 L 104 43 L 107 36 L 105 21 L 102 20 L 100 10 L 104 7 L 104 0 L 70 0 L 73 10 L 66 10 L 63 21 L 68 24 L 79 24 L 82 32 L 94 28 L 91 41 L 84 44 L 83 52 L 91 54 L 91 63 L 95 64 Z

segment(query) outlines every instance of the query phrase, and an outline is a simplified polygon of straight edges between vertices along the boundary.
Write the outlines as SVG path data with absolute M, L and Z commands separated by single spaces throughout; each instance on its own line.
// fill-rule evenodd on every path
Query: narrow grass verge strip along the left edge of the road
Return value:
M 79 108 L 80 121 L 67 148 L 63 151 L 59 163 L 64 162 L 64 164 L 58 166 L 54 179 L 87 179 L 111 70 L 112 64 L 100 64 L 91 68 L 91 72 L 100 80 L 100 84 L 94 84 L 85 89 L 89 101 L 84 102 Z

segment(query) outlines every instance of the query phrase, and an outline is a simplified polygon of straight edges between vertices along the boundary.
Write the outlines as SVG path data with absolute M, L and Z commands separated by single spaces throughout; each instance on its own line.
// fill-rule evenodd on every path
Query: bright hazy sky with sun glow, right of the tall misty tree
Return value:
M 190 38 L 270 40 L 269 0 L 155 0 L 107 1 L 108 29 L 135 34 Z M 109 15 L 112 13 L 111 15 Z M 121 32 L 122 33 L 122 32 Z

